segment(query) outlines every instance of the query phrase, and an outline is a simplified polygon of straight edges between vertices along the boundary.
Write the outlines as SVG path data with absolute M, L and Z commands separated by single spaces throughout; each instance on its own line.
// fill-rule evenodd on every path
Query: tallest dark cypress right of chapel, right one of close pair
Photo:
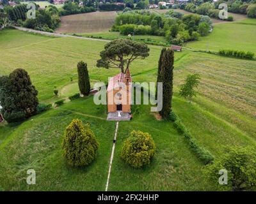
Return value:
M 173 50 L 168 48 L 163 53 L 161 62 L 161 81 L 163 82 L 163 108 L 159 113 L 163 119 L 166 119 L 172 111 L 173 62 Z

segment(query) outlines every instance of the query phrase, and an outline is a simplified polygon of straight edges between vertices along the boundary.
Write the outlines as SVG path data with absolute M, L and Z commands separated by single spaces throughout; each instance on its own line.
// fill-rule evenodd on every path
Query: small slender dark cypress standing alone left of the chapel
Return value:
M 90 78 L 87 64 L 83 61 L 77 63 L 78 85 L 81 94 L 88 96 L 90 93 Z

